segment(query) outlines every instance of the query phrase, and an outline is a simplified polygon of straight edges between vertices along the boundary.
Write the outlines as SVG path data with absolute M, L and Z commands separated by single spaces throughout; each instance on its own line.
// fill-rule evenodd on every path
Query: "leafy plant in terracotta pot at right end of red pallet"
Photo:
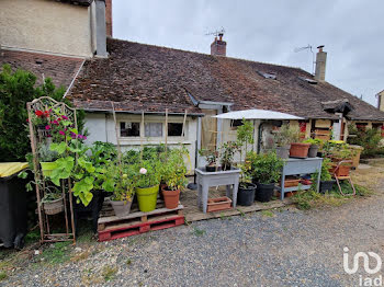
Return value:
M 165 186 L 161 188 L 161 193 L 168 209 L 179 206 L 180 192 L 184 190 L 188 183 L 185 179 L 187 167 L 183 159 L 185 153 L 188 153 L 185 148 L 173 149 L 168 152 L 167 162 L 163 164 L 162 179 Z

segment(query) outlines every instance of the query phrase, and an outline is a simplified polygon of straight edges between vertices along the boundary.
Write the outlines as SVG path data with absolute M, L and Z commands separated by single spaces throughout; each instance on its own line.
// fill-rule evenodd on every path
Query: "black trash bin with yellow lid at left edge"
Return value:
M 19 179 L 24 162 L 0 163 L 0 243 L 22 249 L 27 230 L 26 181 Z

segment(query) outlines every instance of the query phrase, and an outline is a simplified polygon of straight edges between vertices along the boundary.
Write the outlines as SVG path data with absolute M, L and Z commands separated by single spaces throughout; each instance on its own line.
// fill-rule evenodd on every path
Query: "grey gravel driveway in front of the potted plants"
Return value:
M 2 286 L 359 286 L 366 274 L 345 273 L 343 248 L 384 260 L 384 195 L 79 245 L 68 246 L 70 260 L 27 264 Z

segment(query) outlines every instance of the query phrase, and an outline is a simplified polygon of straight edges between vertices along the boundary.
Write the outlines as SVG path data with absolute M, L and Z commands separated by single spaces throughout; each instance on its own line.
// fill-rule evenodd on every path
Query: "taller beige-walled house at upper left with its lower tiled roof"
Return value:
M 69 89 L 86 59 L 106 57 L 111 0 L 0 1 L 0 66 L 30 70 Z

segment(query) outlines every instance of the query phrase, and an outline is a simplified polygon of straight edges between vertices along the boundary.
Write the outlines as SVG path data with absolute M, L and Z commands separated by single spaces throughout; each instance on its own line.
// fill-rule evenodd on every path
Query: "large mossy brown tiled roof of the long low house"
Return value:
M 347 100 L 355 119 L 384 120 L 384 113 L 327 82 L 308 83 L 302 69 L 215 57 L 126 41 L 109 39 L 110 57 L 87 60 L 70 96 L 84 108 L 110 108 L 109 101 L 131 112 L 199 112 L 197 101 L 231 102 L 231 110 L 263 108 L 306 118 L 337 118 L 327 101 Z M 275 74 L 267 79 L 262 73 Z M 187 93 L 188 91 L 188 93 Z M 99 108 L 97 108 L 99 107 Z

